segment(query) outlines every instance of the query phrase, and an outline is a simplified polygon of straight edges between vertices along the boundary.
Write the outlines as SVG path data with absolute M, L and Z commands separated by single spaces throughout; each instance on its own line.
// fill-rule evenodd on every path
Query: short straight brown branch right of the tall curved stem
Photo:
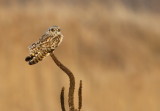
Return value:
M 80 80 L 80 83 L 79 83 L 78 99 L 79 99 L 78 110 L 80 111 L 82 108 L 82 80 Z

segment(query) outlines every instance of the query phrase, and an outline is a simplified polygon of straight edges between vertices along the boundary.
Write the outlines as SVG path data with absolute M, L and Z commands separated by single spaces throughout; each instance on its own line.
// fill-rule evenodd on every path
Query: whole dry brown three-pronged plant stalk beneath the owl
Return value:
M 50 53 L 50 56 L 52 57 L 52 59 L 56 63 L 56 65 L 61 70 L 63 70 L 69 77 L 69 80 L 70 80 L 69 93 L 68 93 L 69 111 L 80 111 L 81 108 L 82 108 L 82 80 L 80 81 L 80 86 L 79 86 L 79 91 L 78 91 L 78 98 L 79 98 L 78 109 L 75 109 L 75 107 L 74 107 L 74 89 L 75 89 L 75 78 L 74 78 L 74 75 L 66 66 L 64 66 L 56 58 L 56 56 L 53 53 Z M 60 100 L 61 100 L 62 111 L 66 111 L 65 110 L 65 103 L 64 103 L 64 87 L 61 90 Z

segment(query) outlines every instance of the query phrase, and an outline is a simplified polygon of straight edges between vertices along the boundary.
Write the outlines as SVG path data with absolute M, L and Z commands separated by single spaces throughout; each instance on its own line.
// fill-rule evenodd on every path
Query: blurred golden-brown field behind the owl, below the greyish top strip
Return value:
M 94 2 L 0 7 L 0 111 L 61 110 L 68 77 L 50 57 L 24 61 L 52 25 L 62 28 L 55 55 L 75 74 L 75 98 L 83 80 L 83 111 L 160 111 L 160 15 Z

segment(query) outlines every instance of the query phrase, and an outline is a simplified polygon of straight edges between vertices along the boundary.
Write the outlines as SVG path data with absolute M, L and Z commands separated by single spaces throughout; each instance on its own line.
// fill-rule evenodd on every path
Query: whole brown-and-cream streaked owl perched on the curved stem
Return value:
M 29 65 L 42 61 L 60 45 L 62 39 L 63 35 L 60 28 L 58 26 L 50 27 L 37 42 L 28 47 L 29 56 L 25 58 L 25 61 L 28 62 Z

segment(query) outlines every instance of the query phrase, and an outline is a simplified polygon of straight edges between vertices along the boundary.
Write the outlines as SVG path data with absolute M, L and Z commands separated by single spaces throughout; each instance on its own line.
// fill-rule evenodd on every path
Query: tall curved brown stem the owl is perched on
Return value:
M 52 57 L 52 59 L 54 60 L 54 62 L 56 63 L 56 65 L 62 69 L 69 77 L 70 80 L 70 87 L 69 87 L 69 93 L 68 93 L 68 104 L 69 104 L 69 110 L 70 111 L 74 111 L 74 89 L 75 89 L 75 78 L 73 73 L 67 68 L 65 67 L 57 58 L 53 53 L 50 53 L 50 56 Z

